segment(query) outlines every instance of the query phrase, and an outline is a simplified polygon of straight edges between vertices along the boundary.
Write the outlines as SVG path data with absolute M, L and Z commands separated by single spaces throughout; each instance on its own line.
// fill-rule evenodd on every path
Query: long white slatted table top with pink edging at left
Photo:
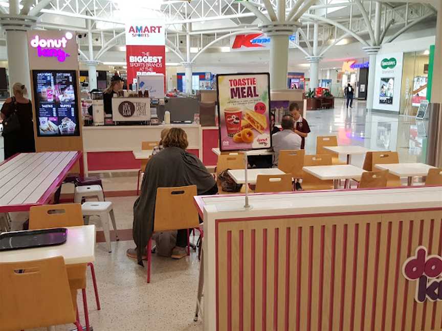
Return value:
M 81 152 L 21 153 L 0 166 L 0 209 L 42 204 L 41 199 L 61 182 Z M 56 187 L 53 187 L 54 191 Z M 2 208 L 4 207 L 4 208 Z

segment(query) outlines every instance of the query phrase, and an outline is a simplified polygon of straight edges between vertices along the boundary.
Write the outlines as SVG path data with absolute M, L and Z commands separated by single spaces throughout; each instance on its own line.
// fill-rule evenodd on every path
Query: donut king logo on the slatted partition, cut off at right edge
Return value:
M 428 255 L 427 248 L 419 246 L 416 254 L 409 257 L 402 273 L 408 280 L 416 281 L 415 300 L 419 303 L 442 300 L 442 257 Z

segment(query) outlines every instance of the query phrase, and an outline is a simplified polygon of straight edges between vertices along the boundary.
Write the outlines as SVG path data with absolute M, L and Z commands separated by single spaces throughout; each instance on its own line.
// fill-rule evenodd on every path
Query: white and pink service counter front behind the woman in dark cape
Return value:
M 132 151 L 141 150 L 142 141 L 159 141 L 164 125 L 83 126 L 85 173 L 138 171 L 140 160 Z M 209 167 L 216 164 L 212 148 L 218 147 L 217 127 L 171 124 L 186 131 L 188 151 Z

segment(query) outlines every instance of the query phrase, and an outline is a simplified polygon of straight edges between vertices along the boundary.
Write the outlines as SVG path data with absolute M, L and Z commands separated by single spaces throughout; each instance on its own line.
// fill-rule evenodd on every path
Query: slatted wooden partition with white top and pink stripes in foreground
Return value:
M 242 195 L 195 202 L 205 330 L 442 329 L 442 302 L 416 302 L 419 279 L 402 271 L 418 246 L 441 254 L 442 187 L 255 194 L 248 210 Z

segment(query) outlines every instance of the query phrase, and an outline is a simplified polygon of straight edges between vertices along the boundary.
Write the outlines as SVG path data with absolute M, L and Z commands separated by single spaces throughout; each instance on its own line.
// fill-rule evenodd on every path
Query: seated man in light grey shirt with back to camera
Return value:
M 282 131 L 272 136 L 275 158 L 273 164 L 278 165 L 279 151 L 301 149 L 301 137 L 293 131 L 295 120 L 292 115 L 284 115 L 281 120 Z

